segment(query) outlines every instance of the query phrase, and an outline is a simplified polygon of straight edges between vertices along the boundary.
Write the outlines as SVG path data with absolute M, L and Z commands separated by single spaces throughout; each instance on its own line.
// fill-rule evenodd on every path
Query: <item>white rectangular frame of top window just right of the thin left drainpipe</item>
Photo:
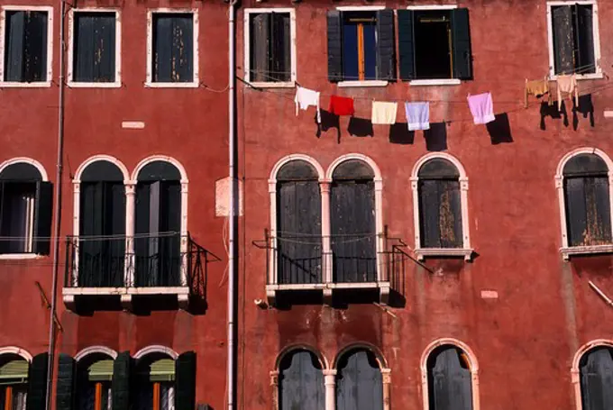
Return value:
M 115 80 L 114 82 L 96 83 L 93 81 L 74 80 L 75 62 L 75 14 L 78 13 L 114 13 L 115 15 Z M 121 11 L 110 7 L 79 7 L 69 10 L 69 59 L 68 86 L 71 88 L 118 88 L 122 87 L 122 18 Z

